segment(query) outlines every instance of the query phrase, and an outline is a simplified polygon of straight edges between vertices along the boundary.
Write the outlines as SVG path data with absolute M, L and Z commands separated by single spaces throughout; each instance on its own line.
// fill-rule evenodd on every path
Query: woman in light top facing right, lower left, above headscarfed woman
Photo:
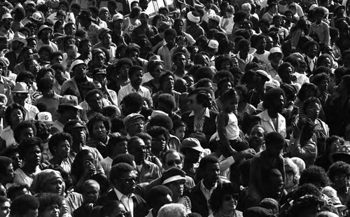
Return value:
M 34 177 L 41 172 L 41 144 L 36 138 L 25 139 L 18 146 L 23 166 L 15 171 L 15 184 L 31 186 Z

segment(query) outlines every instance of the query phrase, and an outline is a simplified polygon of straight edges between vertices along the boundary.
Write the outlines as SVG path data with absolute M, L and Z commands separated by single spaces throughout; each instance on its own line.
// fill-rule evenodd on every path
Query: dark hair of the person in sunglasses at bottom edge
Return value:
M 219 211 L 220 207 L 223 204 L 223 197 L 225 195 L 236 195 L 236 199 L 238 199 L 238 193 L 239 188 L 233 183 L 222 183 L 221 185 L 218 185 L 210 196 L 209 204 L 211 209 L 214 212 Z

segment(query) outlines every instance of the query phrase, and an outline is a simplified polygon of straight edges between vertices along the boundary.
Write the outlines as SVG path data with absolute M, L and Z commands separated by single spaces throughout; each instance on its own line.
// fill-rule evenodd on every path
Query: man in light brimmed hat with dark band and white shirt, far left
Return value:
M 13 102 L 25 107 L 27 116 L 25 120 L 35 120 L 36 114 L 39 113 L 38 108 L 31 104 L 27 104 L 25 100 L 28 98 L 29 90 L 26 83 L 18 82 L 12 90 Z

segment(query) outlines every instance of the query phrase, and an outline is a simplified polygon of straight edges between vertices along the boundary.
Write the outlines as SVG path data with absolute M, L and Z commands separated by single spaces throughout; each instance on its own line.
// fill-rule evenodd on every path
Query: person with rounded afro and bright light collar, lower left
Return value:
M 48 140 L 48 149 L 52 154 L 52 158 L 47 160 L 45 164 L 58 165 L 62 167 L 64 172 L 71 172 L 71 161 L 68 158 L 71 150 L 72 138 L 70 134 L 65 132 L 57 132 L 52 134 Z

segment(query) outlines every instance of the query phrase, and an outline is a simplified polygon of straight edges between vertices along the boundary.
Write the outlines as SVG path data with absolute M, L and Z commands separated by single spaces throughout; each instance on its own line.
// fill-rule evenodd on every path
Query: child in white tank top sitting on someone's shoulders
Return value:
M 221 151 L 228 158 L 237 151 L 243 151 L 248 148 L 247 144 L 239 139 L 238 120 L 235 116 L 239 96 L 234 89 L 230 89 L 221 96 L 223 101 L 223 111 L 218 114 L 217 118 L 217 135 L 216 140 L 220 140 Z

